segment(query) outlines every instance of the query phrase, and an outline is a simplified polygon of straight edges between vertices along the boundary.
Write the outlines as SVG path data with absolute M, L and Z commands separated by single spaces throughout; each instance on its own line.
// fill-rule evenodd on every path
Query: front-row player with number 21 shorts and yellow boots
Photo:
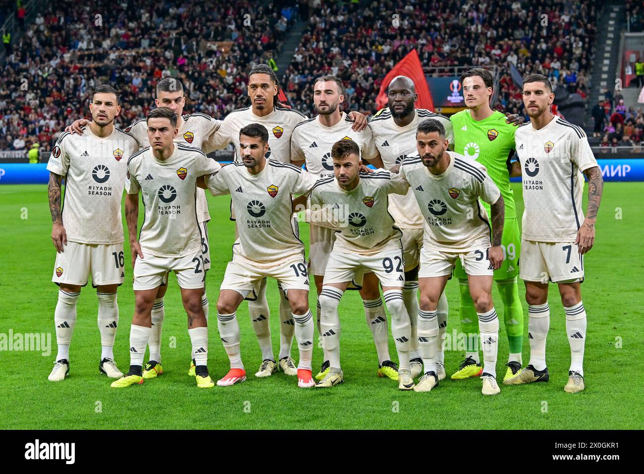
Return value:
M 143 383 L 142 365 L 152 331 L 152 308 L 158 287 L 169 272 L 176 274 L 187 312 L 197 386 L 214 386 L 208 375 L 208 329 L 201 304 L 205 272 L 196 213 L 196 179 L 218 171 L 221 166 L 198 148 L 175 144 L 176 125 L 177 115 L 170 108 L 152 110 L 147 115 L 150 146 L 128 161 L 126 221 L 136 307 L 129 334 L 129 371 L 113 382 L 114 388 Z M 146 215 L 137 240 L 139 192 Z

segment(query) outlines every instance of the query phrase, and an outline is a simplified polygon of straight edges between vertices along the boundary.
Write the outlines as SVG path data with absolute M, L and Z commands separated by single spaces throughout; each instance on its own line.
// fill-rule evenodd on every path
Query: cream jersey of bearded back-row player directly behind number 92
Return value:
M 319 115 L 298 124 L 290 138 L 291 161 L 305 160 L 307 171 L 321 178 L 334 176 L 331 148 L 339 140 L 351 139 L 360 148 L 360 157 L 374 159 L 378 150 L 374 136 L 368 126 L 361 132 L 352 130 L 352 121 L 345 112 L 340 113 L 340 121 L 334 126 L 324 126 Z

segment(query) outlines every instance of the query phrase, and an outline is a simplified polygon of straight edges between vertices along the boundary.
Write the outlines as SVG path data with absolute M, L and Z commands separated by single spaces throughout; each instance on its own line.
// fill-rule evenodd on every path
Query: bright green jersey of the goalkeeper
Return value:
M 476 121 L 466 109 L 452 115 L 450 120 L 454 128 L 454 151 L 488 169 L 506 204 L 506 219 L 512 219 L 516 217 L 515 197 L 507 166 L 509 155 L 515 150 L 516 127 L 506 123 L 506 118 L 501 112 L 494 112 L 487 119 Z M 489 204 L 482 204 L 490 215 Z

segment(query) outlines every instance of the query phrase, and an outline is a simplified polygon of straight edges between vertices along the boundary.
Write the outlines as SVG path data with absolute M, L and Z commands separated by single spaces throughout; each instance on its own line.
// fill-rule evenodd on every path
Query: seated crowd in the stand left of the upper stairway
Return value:
M 155 85 L 167 76 L 187 88 L 187 110 L 221 117 L 245 105 L 247 71 L 269 63 L 293 17 L 289 8 L 249 0 L 56 1 L 6 59 L 0 150 L 51 146 L 71 119 L 87 113 L 102 83 L 122 94 L 119 126 L 154 106 Z

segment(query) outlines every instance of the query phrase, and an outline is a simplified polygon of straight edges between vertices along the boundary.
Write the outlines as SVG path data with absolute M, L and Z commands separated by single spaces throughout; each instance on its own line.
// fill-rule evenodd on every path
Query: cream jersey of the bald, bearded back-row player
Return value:
M 445 138 L 450 144 L 454 141 L 450 119 L 424 108 L 415 109 L 413 120 L 403 127 L 393 121 L 392 112 L 388 107 L 381 109 L 369 121 L 369 126 L 374 133 L 375 147 L 380 152 L 386 170 L 400 164 L 406 155 L 416 153 L 416 129 L 425 119 L 436 119 L 442 123 L 445 127 Z M 422 228 L 424 219 L 412 190 L 404 196 L 392 195 L 389 200 L 389 212 L 400 228 Z

